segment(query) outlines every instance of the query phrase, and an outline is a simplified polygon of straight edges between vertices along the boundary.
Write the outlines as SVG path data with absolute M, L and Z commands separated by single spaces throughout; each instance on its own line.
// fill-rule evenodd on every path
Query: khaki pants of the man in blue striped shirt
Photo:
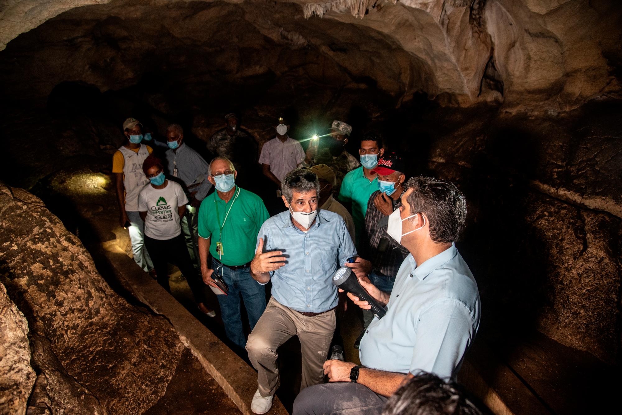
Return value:
M 276 362 L 279 355 L 276 350 L 293 335 L 300 340 L 302 354 L 300 390 L 323 383 L 323 365 L 336 322 L 335 310 L 308 317 L 271 298 L 246 342 L 248 358 L 258 371 L 261 396 L 271 396 L 279 388 L 279 366 Z

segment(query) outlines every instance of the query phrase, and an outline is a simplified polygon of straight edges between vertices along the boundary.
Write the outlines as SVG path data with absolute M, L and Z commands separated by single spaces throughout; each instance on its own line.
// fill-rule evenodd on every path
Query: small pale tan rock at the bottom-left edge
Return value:
M 30 367 L 28 322 L 0 283 L 0 413 L 26 414 L 35 381 Z

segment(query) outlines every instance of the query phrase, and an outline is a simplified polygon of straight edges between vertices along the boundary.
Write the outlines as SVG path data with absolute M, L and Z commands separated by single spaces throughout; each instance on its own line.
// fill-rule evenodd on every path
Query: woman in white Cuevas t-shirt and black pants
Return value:
M 138 195 L 138 211 L 145 222 L 145 247 L 154 263 L 157 282 L 170 293 L 168 263 L 176 265 L 188 281 L 198 308 L 210 317 L 216 316 L 203 303 L 206 286 L 192 265 L 179 224 L 188 203 L 182 186 L 164 177 L 162 162 L 155 156 L 145 159 L 142 171 L 150 183 Z

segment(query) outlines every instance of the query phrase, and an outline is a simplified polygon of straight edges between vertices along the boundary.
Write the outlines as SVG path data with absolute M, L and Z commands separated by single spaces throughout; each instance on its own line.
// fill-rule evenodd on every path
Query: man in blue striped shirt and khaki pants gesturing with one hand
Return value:
M 287 211 L 259 230 L 251 273 L 260 284 L 272 281 L 272 298 L 246 344 L 258 370 L 251 404 L 256 414 L 272 406 L 279 387 L 276 350 L 292 335 L 298 336 L 302 353 L 300 388 L 323 382 L 338 303 L 332 276 L 356 249 L 341 216 L 318 209 L 319 187 L 308 168 L 287 173 L 281 183 Z

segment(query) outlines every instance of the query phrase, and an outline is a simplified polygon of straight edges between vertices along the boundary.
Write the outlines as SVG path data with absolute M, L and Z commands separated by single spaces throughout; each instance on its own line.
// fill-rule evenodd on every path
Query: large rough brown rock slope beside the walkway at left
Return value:
M 31 406 L 93 414 L 151 408 L 185 349 L 177 332 L 114 293 L 40 199 L 1 185 L 0 205 L 0 278 L 29 321 L 40 371 Z

